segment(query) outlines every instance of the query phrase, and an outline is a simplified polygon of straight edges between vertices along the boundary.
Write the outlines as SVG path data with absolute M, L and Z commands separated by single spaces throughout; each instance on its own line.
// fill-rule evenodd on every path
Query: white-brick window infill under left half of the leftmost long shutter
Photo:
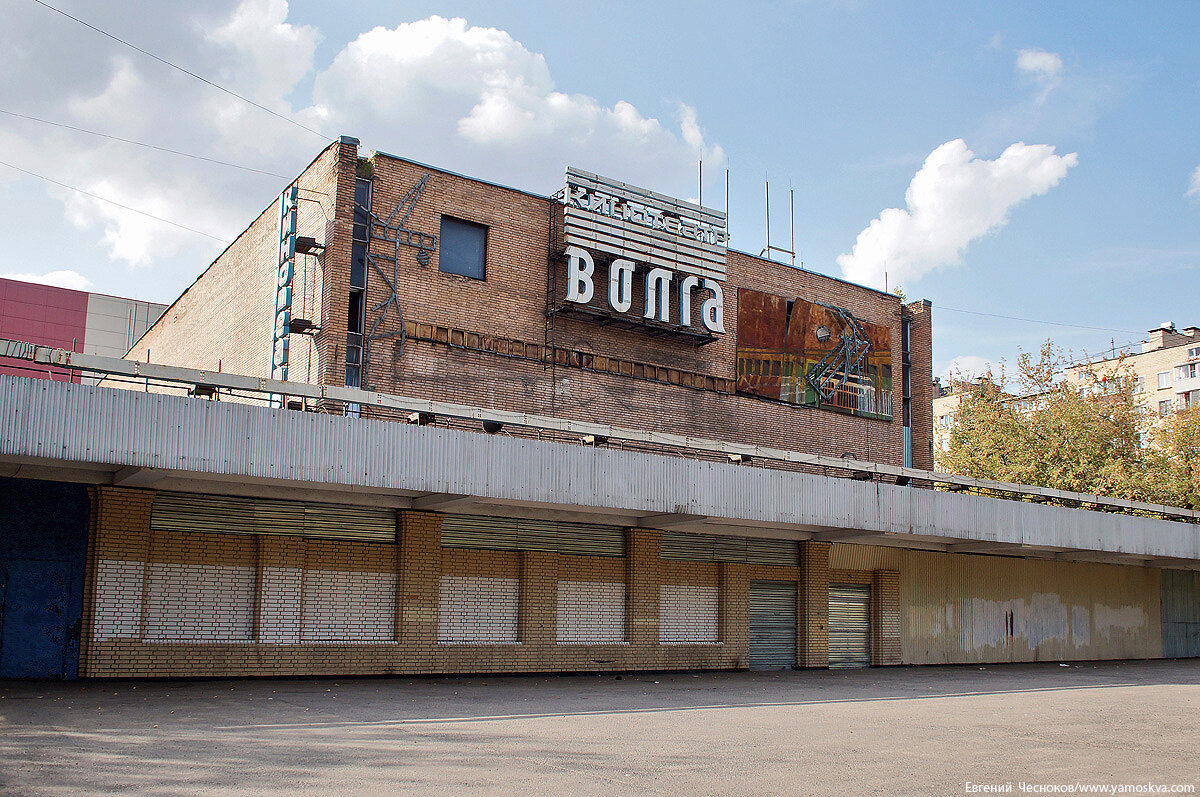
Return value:
M 254 568 L 151 562 L 145 574 L 148 642 L 251 640 Z

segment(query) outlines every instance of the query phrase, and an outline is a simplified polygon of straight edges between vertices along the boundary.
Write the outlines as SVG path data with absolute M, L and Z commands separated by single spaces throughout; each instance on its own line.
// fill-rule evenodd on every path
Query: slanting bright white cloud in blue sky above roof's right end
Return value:
M 959 262 L 967 245 L 1008 223 L 1013 208 L 1045 193 L 1079 162 L 1045 144 L 1016 143 L 994 161 L 977 158 L 962 139 L 930 152 L 905 192 L 906 209 L 888 208 L 838 257 L 851 281 L 883 287 L 920 278 Z

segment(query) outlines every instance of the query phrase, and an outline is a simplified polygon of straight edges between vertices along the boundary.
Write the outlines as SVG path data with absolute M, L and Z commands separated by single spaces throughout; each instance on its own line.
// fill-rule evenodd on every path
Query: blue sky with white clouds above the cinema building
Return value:
M 0 276 L 170 301 L 348 134 L 544 194 L 576 166 L 696 199 L 702 161 L 716 209 L 728 169 L 731 246 L 752 253 L 768 181 L 790 245 L 791 188 L 803 268 L 932 302 L 935 376 L 1200 325 L 1192 0 L 8 0 L 6 17 Z

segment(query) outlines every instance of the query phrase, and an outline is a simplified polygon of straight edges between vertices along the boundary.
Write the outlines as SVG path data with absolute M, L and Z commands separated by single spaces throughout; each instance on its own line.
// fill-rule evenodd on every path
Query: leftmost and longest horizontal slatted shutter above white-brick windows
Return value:
M 368 543 L 396 541 L 396 510 L 305 501 L 155 495 L 150 528 L 163 532 L 281 534 Z

